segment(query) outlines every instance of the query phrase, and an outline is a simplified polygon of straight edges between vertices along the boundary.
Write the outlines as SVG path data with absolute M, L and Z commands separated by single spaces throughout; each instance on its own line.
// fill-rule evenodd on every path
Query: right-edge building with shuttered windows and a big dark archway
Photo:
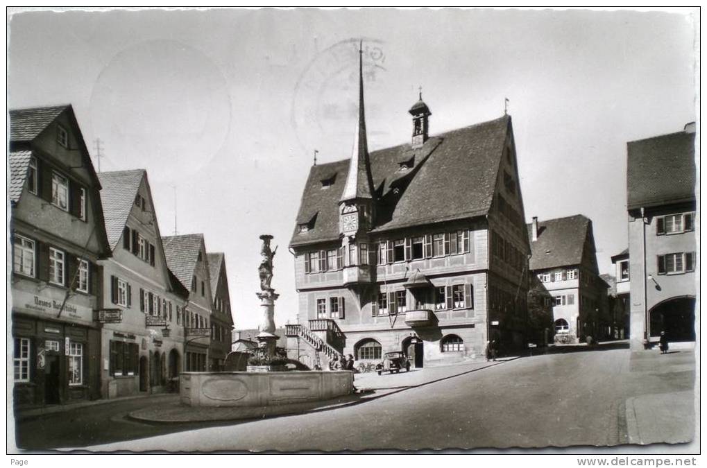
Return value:
M 631 349 L 694 341 L 695 127 L 627 144 Z

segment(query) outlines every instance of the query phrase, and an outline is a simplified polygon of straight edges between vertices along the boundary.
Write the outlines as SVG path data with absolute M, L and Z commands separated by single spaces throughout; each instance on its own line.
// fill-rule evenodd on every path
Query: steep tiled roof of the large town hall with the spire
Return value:
M 510 116 L 448 131 L 428 139 L 424 146 L 410 144 L 370 153 L 373 185 L 378 194 L 380 232 L 439 221 L 486 214 L 493 200 L 503 145 L 510 131 Z M 399 161 L 414 157 L 414 166 L 400 172 Z M 339 238 L 339 206 L 349 171 L 349 160 L 312 166 L 300 202 L 297 223 L 314 226 L 299 233 L 290 245 L 305 245 Z M 336 175 L 322 189 L 322 180 Z

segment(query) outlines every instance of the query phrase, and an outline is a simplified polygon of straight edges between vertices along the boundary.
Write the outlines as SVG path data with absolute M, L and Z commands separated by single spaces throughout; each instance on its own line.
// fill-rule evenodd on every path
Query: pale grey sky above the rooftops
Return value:
M 101 171 L 148 170 L 162 235 L 225 252 L 233 319 L 262 312 L 258 236 L 279 245 L 278 326 L 296 320 L 288 243 L 313 163 L 349 158 L 363 40 L 373 151 L 513 118 L 525 218 L 584 214 L 601 273 L 628 246 L 626 142 L 696 119 L 689 11 L 27 11 L 8 18 L 8 107 L 71 103 Z M 98 158 L 95 140 L 100 139 Z

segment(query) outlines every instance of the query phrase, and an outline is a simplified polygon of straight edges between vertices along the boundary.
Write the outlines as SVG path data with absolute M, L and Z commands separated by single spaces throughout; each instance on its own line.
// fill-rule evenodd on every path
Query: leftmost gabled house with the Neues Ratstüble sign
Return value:
M 16 406 L 100 397 L 100 182 L 71 105 L 11 110 L 8 197 Z

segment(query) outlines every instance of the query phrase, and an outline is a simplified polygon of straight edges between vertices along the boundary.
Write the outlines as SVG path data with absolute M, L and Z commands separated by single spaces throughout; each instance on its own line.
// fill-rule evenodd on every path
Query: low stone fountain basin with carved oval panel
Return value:
M 353 392 L 351 370 L 180 374 L 180 399 L 189 406 L 271 406 L 332 399 Z

